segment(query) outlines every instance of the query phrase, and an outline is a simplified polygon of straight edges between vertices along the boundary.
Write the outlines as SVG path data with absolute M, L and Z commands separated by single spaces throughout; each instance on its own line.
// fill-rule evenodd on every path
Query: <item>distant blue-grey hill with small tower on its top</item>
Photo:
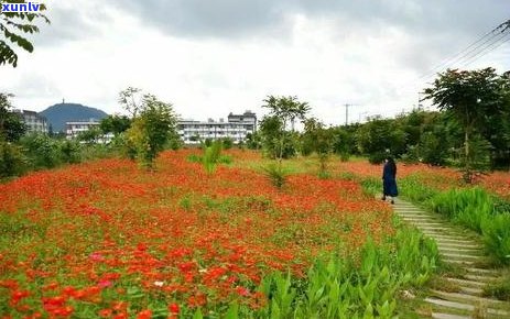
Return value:
M 54 132 L 64 131 L 65 122 L 87 121 L 90 119 L 101 120 L 108 117 L 108 114 L 101 110 L 77 103 L 54 105 L 40 112 L 40 114 L 47 119 L 47 122 L 48 124 L 52 124 Z

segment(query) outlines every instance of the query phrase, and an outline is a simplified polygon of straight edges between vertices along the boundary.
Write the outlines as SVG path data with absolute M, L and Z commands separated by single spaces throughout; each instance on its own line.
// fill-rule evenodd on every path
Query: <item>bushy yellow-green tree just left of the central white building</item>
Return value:
M 172 105 L 160 101 L 153 95 L 144 95 L 131 128 L 128 141 L 135 151 L 139 163 L 152 168 L 158 154 L 163 151 L 171 136 L 176 136 L 176 116 Z

